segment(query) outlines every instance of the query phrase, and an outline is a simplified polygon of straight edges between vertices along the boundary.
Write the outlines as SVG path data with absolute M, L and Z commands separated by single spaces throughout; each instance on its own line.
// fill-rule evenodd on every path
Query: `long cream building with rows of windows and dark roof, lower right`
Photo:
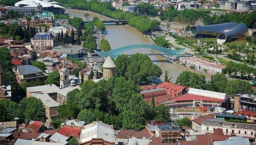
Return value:
M 245 117 L 230 114 L 216 114 L 218 118 L 204 119 L 202 121 L 202 133 L 213 133 L 215 129 L 220 128 L 225 135 L 244 136 L 249 138 L 250 142 L 254 140 L 256 124 L 246 123 Z M 232 121 L 232 119 L 240 121 Z

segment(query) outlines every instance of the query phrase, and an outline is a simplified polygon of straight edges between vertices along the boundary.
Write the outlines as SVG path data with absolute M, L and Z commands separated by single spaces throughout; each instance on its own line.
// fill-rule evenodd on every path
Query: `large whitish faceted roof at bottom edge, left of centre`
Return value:
M 84 129 L 81 130 L 80 143 L 86 143 L 88 141 L 91 141 L 92 138 L 102 138 L 104 141 L 114 143 L 114 129 L 111 129 L 110 125 L 102 123 L 102 121 L 94 121 L 91 124 L 85 125 Z

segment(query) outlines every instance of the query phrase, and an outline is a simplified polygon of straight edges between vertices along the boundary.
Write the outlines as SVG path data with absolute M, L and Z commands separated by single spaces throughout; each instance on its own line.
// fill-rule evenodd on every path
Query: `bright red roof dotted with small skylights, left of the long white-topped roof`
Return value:
M 157 87 L 158 88 L 162 87 L 165 89 L 166 92 L 171 93 L 173 95 L 178 95 L 178 92 L 182 91 L 183 89 L 186 89 L 187 86 L 178 85 L 177 83 L 169 83 L 169 82 L 164 81 Z

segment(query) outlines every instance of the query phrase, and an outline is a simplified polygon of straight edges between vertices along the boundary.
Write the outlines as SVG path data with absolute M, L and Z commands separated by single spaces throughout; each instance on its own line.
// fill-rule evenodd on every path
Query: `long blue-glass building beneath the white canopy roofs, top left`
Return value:
M 26 15 L 28 17 L 31 17 L 32 14 L 41 14 L 43 11 L 43 8 L 40 5 L 35 5 L 33 7 L 7 6 L 5 8 L 7 10 L 7 13 L 9 11 L 18 11 L 21 14 Z

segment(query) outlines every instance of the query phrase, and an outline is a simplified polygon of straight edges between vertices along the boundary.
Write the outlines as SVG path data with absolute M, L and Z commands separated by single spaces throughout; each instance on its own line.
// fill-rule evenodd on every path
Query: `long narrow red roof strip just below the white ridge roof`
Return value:
M 223 101 L 222 99 L 216 99 L 216 98 L 212 98 L 212 97 L 194 95 L 194 94 L 189 94 L 189 93 L 185 93 L 185 94 L 180 95 L 178 97 L 174 97 L 172 100 L 173 101 L 193 101 L 193 99 L 196 99 L 196 100 L 202 99 L 204 101 L 216 101 L 216 102 Z

